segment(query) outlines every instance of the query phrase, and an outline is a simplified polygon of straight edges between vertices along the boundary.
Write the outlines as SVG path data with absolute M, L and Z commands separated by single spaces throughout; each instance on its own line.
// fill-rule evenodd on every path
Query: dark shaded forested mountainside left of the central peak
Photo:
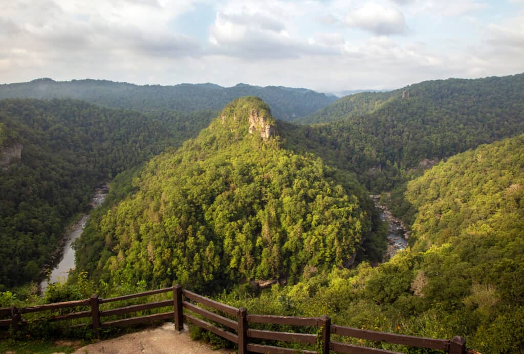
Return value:
M 0 290 L 35 279 L 97 184 L 179 146 L 209 115 L 0 101 Z

